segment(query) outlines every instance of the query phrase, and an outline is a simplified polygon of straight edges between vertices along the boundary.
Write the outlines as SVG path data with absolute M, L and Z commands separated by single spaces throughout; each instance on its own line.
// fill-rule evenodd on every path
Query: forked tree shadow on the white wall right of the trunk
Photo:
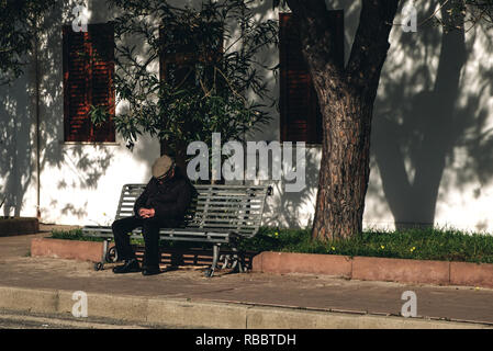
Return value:
M 418 19 L 428 18 L 436 5 L 418 12 Z M 452 24 L 447 9 L 441 15 Z M 481 26 L 469 32 L 466 45 L 463 30 L 444 33 L 427 24 L 417 33 L 400 31 L 399 41 L 391 42 L 374 107 L 372 154 L 397 228 L 433 225 L 440 186 L 447 192 L 478 180 L 485 184 L 493 174 L 493 135 L 485 131 L 484 107 L 493 72 L 491 65 L 483 66 L 488 61 L 471 56 L 482 31 L 485 35 Z M 466 75 L 468 65 L 479 68 Z M 458 149 L 464 151 L 460 160 Z M 444 178 L 446 167 L 457 162 L 466 162 L 453 170 L 457 180 Z M 376 194 L 370 186 L 369 195 Z

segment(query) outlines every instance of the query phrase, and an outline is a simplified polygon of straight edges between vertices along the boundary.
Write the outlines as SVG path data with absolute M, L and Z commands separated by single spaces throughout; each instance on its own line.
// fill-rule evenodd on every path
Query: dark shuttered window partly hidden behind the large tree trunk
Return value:
M 344 12 L 330 11 L 337 59 L 344 59 Z M 281 141 L 322 143 L 322 114 L 291 13 L 279 14 Z

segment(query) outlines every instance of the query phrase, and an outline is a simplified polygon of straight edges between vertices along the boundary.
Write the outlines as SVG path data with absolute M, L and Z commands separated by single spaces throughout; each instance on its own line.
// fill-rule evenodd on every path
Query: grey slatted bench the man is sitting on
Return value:
M 146 184 L 125 184 L 122 188 L 115 219 L 134 215 L 134 204 Z M 190 242 L 209 242 L 213 245 L 211 267 L 205 270 L 206 276 L 213 276 L 219 261 L 223 268 L 244 272 L 243 258 L 237 244 L 244 238 L 251 238 L 261 225 L 266 196 L 271 193 L 270 186 L 260 185 L 194 185 L 197 196 L 179 228 L 161 228 L 161 240 L 180 240 Z M 86 226 L 85 236 L 104 238 L 104 253 L 94 269 L 103 269 L 105 262 L 117 260 L 114 247 L 110 249 L 113 238 L 111 226 Z M 142 228 L 133 230 L 132 238 L 142 238 Z M 231 247 L 233 254 L 220 257 L 221 245 Z

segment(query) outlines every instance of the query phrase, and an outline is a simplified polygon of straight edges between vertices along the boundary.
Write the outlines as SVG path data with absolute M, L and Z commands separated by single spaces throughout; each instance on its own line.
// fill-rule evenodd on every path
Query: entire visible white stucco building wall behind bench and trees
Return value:
M 117 136 L 115 145 L 63 143 L 61 24 L 72 20 L 75 2 L 61 1 L 48 19 L 53 32 L 45 35 L 42 52 L 42 220 L 57 224 L 107 224 L 116 210 L 124 183 L 146 182 L 159 145 L 141 138 L 133 152 Z M 79 3 L 79 2 L 77 2 Z M 103 1 L 88 1 L 90 23 L 105 22 L 112 13 Z M 178 3 L 184 3 L 179 1 Z M 345 57 L 358 25 L 359 1 L 327 1 L 345 11 Z M 418 22 L 436 9 L 418 8 Z M 278 11 L 265 1 L 259 19 L 277 19 Z M 400 23 L 400 12 L 395 23 Z M 453 53 L 456 37 L 442 41 L 440 29 L 419 26 L 417 33 L 392 30 L 391 48 L 383 67 L 374 106 L 372 161 L 366 202 L 366 227 L 393 228 L 395 223 L 435 223 L 469 230 L 493 230 L 493 58 L 491 33 L 481 27 L 466 34 L 466 61 Z M 446 55 L 440 57 L 444 48 Z M 262 53 L 269 66 L 279 60 L 277 48 Z M 455 70 L 455 67 L 458 67 Z M 441 75 L 438 72 L 441 71 Z M 456 72 L 456 73 L 453 73 Z M 266 76 L 272 97 L 278 81 Z M 33 72 L 13 87 L 0 88 L 2 129 L 0 194 L 9 194 L 3 214 L 36 213 Z M 120 109 L 119 106 L 117 109 Z M 119 111 L 119 110 L 117 110 Z M 279 140 L 279 113 L 254 140 Z M 306 152 L 306 189 L 285 193 L 272 181 L 265 224 L 307 226 L 313 220 L 320 147 Z M 1 199 L 0 199 L 1 201 Z M 435 204 L 436 206 L 429 206 Z

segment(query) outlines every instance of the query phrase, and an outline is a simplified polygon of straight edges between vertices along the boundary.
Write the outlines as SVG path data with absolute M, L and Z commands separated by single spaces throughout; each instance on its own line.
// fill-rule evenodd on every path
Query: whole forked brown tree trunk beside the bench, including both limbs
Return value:
M 312 236 L 361 233 L 370 176 L 370 133 L 380 72 L 399 0 L 363 0 L 346 66 L 336 59 L 324 0 L 288 0 L 323 115 L 322 161 Z

